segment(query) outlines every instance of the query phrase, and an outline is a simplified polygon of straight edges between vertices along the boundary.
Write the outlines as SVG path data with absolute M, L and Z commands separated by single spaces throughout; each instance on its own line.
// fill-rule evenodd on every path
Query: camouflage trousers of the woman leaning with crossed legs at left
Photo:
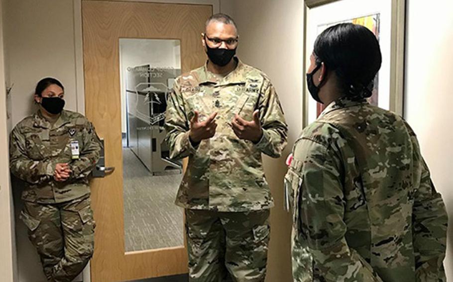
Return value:
M 58 204 L 25 202 L 21 219 L 52 282 L 71 282 L 85 268 L 94 250 L 90 196 Z

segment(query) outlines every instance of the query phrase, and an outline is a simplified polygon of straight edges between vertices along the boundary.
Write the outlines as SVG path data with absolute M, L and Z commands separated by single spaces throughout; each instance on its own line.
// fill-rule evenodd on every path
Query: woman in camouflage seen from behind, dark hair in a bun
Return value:
M 445 281 L 447 213 L 417 138 L 365 100 L 380 65 L 365 27 L 336 25 L 315 43 L 307 83 L 328 107 L 288 160 L 294 281 Z

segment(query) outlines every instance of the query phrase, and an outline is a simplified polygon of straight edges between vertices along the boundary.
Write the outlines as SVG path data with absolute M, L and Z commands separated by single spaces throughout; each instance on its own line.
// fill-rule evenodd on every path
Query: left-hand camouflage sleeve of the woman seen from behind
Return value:
M 346 239 L 340 148 L 302 139 L 295 157 L 303 160 L 299 187 L 299 236 L 307 242 L 325 281 L 381 282 Z

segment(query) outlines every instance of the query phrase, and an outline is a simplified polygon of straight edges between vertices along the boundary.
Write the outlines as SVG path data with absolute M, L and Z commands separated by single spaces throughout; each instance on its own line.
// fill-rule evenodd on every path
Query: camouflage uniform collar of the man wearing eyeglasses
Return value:
M 233 60 L 237 63 L 236 68 L 234 70 L 231 70 L 231 72 L 228 73 L 224 78 L 219 78 L 214 73 L 209 71 L 208 61 L 206 61 L 205 66 L 200 73 L 198 85 L 206 83 L 218 85 L 245 83 L 245 75 L 243 75 L 244 64 L 237 57 L 234 57 Z

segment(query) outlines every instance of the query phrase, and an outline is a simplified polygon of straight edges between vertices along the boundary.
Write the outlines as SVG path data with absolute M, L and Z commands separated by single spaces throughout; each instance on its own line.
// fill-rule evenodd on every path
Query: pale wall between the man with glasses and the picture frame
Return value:
M 238 57 L 266 72 L 281 100 L 289 126 L 288 146 L 280 159 L 265 157 L 264 170 L 275 208 L 271 210 L 268 282 L 289 282 L 291 216 L 283 211 L 285 158 L 302 129 L 304 2 L 301 0 L 221 0 L 239 33 Z

